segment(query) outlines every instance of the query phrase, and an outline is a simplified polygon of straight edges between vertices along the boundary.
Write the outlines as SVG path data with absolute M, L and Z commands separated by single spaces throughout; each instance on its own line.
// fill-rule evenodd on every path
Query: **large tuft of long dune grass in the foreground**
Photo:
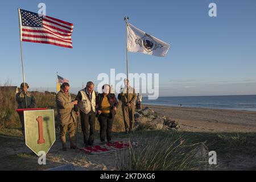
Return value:
M 137 133 L 130 142 L 138 146 L 115 155 L 117 169 L 122 171 L 183 171 L 207 169 L 207 147 L 180 132 L 154 131 Z M 208 165 L 209 168 L 209 165 Z

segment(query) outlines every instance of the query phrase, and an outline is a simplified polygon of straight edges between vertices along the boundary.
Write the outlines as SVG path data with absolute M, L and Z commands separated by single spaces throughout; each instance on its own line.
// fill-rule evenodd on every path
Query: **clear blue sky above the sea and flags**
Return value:
M 210 17 L 209 3 L 217 17 Z M 73 48 L 23 42 L 25 80 L 56 90 L 56 72 L 71 92 L 100 73 L 126 73 L 129 23 L 171 45 L 166 57 L 128 53 L 129 73 L 159 73 L 160 96 L 256 94 L 256 1 L 1 1 L 0 84 L 20 85 L 18 7 L 74 24 Z

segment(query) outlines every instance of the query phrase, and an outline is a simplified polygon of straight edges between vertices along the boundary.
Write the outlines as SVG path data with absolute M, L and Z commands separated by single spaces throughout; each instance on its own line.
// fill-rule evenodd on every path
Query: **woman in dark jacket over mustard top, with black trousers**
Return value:
M 108 142 L 112 142 L 112 126 L 118 107 L 117 98 L 110 93 L 110 85 L 102 86 L 103 93 L 98 94 L 96 99 L 98 122 L 100 122 L 100 139 L 105 143 L 105 136 Z

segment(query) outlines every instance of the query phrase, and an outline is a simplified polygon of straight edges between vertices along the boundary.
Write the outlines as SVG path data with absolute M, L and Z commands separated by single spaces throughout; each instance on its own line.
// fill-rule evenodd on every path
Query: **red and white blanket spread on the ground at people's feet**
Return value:
M 100 146 L 91 146 L 81 148 L 86 154 L 102 154 L 111 151 L 123 150 L 125 148 L 129 148 L 129 142 L 114 142 L 114 143 L 106 143 Z

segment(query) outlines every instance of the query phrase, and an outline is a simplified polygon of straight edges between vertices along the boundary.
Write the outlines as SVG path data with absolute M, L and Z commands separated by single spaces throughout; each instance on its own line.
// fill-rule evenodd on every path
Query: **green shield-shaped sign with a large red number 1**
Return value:
M 24 111 L 25 140 L 36 155 L 39 151 L 47 152 L 55 142 L 54 110 Z

